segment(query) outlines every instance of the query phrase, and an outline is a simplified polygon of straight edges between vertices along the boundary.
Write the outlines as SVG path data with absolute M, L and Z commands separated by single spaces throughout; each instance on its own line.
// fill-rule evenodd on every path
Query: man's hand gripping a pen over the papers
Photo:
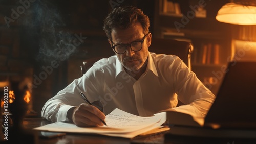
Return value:
M 72 121 L 79 127 L 103 126 L 105 115 L 97 107 L 82 103 L 74 109 Z

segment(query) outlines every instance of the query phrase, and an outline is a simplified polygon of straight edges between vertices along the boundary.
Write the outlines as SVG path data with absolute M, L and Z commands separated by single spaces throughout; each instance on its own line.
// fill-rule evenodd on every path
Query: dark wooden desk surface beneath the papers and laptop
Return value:
M 123 144 L 123 143 L 223 143 L 223 144 L 238 144 L 238 143 L 253 143 L 255 140 L 245 141 L 244 139 L 220 139 L 220 138 L 206 138 L 206 137 L 189 137 L 189 136 L 177 136 L 170 134 L 155 134 L 146 137 L 140 137 L 135 139 L 126 139 L 119 137 L 109 137 L 102 135 L 90 135 L 90 134 L 74 134 L 67 133 L 65 136 L 42 139 L 38 137 L 39 131 L 33 131 L 35 127 L 44 126 L 51 122 L 41 118 L 25 118 L 23 121 L 23 129 L 27 135 L 22 135 L 22 139 L 26 139 L 26 143 L 111 143 L 111 144 Z M 172 130 L 172 128 L 171 128 Z M 175 129 L 173 129 L 175 130 Z M 18 133 L 17 135 L 20 135 Z M 32 137 L 31 137 L 32 136 Z M 25 137 L 25 138 L 24 138 Z M 31 142 L 33 139 L 35 142 Z M 15 137 L 15 139 L 18 139 Z M 29 141 L 30 139 L 30 141 Z M 9 140 L 8 140 L 9 141 Z

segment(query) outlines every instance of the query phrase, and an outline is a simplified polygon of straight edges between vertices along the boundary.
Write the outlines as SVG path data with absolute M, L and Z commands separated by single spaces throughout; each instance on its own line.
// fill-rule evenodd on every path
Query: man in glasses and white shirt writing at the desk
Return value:
M 70 121 L 77 126 L 102 126 L 101 120 L 115 108 L 151 116 L 164 110 L 205 116 L 215 95 L 174 55 L 148 52 L 150 21 L 132 6 L 114 9 L 104 20 L 104 31 L 115 56 L 101 59 L 81 78 L 46 102 L 42 117 Z M 90 102 L 100 101 L 101 112 Z M 178 99 L 184 104 L 176 107 Z

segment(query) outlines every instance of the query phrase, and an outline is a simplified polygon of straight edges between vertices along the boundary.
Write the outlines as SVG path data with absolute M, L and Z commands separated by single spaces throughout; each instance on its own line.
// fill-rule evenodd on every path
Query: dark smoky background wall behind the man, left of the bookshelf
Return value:
M 14 83 L 28 86 L 31 107 L 40 116 L 49 98 L 81 76 L 83 60 L 113 55 L 103 19 L 122 5 L 140 7 L 154 20 L 152 0 L 0 1 L 1 94 Z

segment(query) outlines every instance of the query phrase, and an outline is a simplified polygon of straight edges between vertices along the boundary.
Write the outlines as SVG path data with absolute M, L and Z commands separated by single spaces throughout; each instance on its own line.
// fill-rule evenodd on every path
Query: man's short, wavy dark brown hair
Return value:
M 141 9 L 133 6 L 125 6 L 115 8 L 104 20 L 103 30 L 106 36 L 112 40 L 111 32 L 115 28 L 126 29 L 129 28 L 134 22 L 140 22 L 145 34 L 149 32 L 150 19 L 143 13 Z

